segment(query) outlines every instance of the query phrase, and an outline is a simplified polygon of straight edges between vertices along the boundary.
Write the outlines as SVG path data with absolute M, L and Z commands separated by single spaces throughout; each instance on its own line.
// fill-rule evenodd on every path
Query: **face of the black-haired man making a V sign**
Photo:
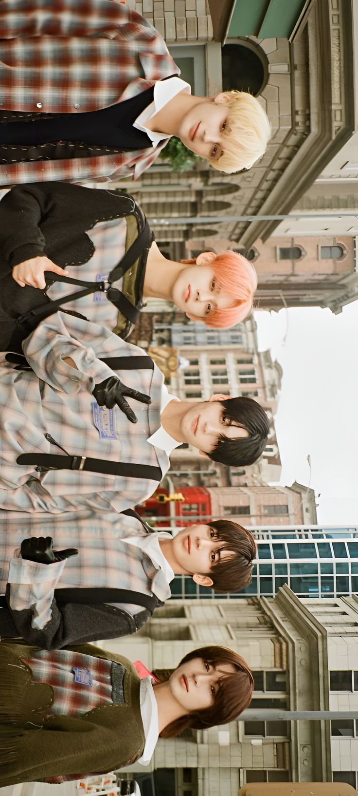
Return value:
M 248 437 L 246 428 L 232 421 L 220 403 L 227 396 L 212 396 L 209 401 L 190 404 L 181 418 L 181 433 L 186 443 L 199 449 L 200 453 L 215 451 L 220 435 L 227 439 Z

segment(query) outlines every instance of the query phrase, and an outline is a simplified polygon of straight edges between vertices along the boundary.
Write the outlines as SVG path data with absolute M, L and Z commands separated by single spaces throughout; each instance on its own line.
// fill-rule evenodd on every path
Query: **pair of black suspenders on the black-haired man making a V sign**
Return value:
M 154 370 L 150 357 L 107 357 L 101 359 L 111 369 Z M 52 439 L 52 438 L 51 438 Z M 56 443 L 55 443 L 56 444 Z M 122 476 L 124 478 L 146 478 L 160 482 L 161 468 L 151 464 L 132 464 L 130 462 L 111 462 L 107 459 L 90 458 L 84 455 L 58 455 L 47 453 L 21 453 L 18 464 L 33 465 L 37 470 L 84 470 L 84 472 Z

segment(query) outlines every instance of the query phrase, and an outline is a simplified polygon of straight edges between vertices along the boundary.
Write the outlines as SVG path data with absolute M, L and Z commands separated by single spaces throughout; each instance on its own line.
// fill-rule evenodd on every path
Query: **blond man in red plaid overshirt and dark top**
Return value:
M 2 0 L 0 185 L 138 178 L 172 135 L 249 169 L 270 123 L 255 97 L 191 96 L 159 33 L 115 0 Z

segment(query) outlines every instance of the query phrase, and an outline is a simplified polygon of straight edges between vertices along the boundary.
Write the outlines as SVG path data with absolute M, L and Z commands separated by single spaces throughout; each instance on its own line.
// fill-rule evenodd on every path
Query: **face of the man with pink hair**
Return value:
M 177 308 L 193 320 L 210 318 L 216 310 L 233 306 L 232 296 L 221 291 L 211 265 L 200 265 L 212 252 L 203 252 L 197 265 L 184 267 L 173 285 L 172 299 Z M 215 255 L 212 254 L 215 259 Z

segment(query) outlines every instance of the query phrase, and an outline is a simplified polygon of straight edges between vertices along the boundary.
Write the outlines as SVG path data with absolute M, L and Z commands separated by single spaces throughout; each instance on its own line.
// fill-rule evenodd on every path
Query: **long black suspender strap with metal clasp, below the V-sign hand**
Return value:
M 130 462 L 108 462 L 107 459 L 87 456 L 61 456 L 48 453 L 21 453 L 18 464 L 31 464 L 41 470 L 83 470 L 88 473 L 116 475 L 120 478 L 145 478 L 161 481 L 161 468 L 151 464 L 131 464 Z

